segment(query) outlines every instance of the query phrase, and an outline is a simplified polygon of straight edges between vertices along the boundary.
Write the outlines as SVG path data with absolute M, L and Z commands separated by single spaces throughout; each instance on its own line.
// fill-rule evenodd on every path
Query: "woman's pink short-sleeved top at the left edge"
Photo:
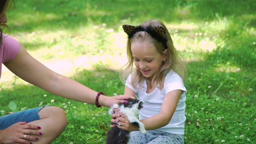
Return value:
M 2 73 L 2 64 L 10 62 L 18 54 L 19 42 L 14 38 L 3 34 L 3 42 L 0 45 L 0 78 Z

